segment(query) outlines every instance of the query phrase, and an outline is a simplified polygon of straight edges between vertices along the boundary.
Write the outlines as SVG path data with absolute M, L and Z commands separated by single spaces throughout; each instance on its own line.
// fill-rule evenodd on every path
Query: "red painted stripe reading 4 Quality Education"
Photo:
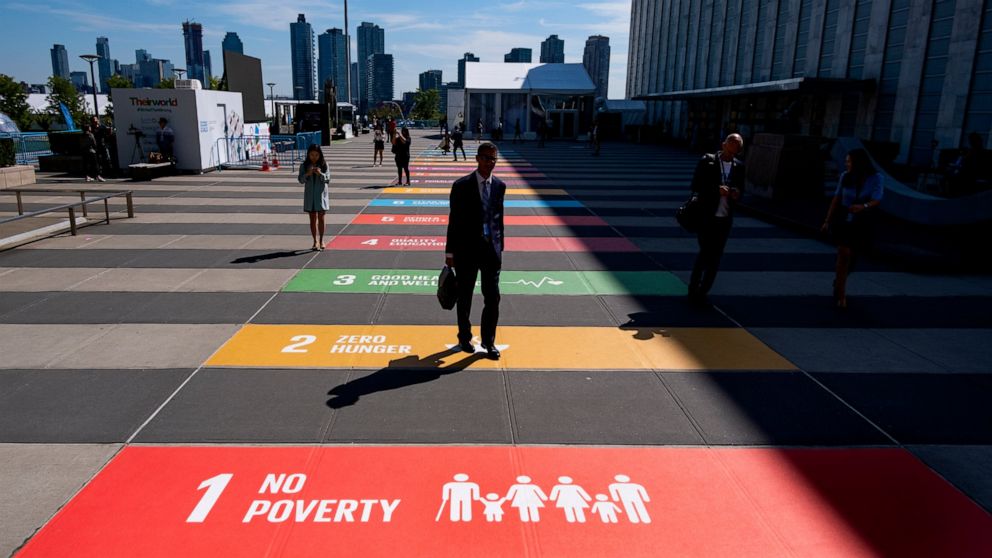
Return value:
M 341 235 L 331 240 L 331 250 L 442 250 L 443 236 L 364 236 Z M 511 236 L 506 239 L 510 252 L 637 252 L 637 246 L 622 237 L 543 237 Z

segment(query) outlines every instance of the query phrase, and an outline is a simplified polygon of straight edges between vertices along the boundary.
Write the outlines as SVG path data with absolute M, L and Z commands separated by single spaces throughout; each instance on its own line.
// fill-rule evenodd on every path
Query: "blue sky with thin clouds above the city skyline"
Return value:
M 0 73 L 18 81 L 43 83 L 51 74 L 49 50 L 64 44 L 72 70 L 89 66 L 80 54 L 96 51 L 96 37 L 110 39 L 110 54 L 134 62 L 135 49 L 185 66 L 181 24 L 203 24 L 204 48 L 211 51 L 214 73 L 221 72 L 220 43 L 235 31 L 245 54 L 262 59 L 265 81 L 276 94 L 291 93 L 289 24 L 305 14 L 315 33 L 344 27 L 342 0 L 4 0 L 0 13 Z M 371 21 L 386 30 L 386 52 L 396 66 L 395 96 L 417 87 L 417 76 L 440 69 L 445 81 L 457 79 L 457 60 L 474 52 L 483 62 L 502 62 L 513 47 L 530 48 L 534 62 L 541 41 L 557 34 L 565 40 L 565 61 L 582 62 L 589 35 L 610 38 L 610 98 L 623 98 L 627 74 L 630 0 L 349 0 L 352 60 L 354 30 Z

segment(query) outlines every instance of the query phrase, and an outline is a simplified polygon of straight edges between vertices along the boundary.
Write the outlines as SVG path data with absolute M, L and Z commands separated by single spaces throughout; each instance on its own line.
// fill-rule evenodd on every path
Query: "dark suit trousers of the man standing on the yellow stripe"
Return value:
M 455 277 L 458 278 L 458 341 L 472 340 L 472 294 L 475 281 L 482 279 L 482 344 L 493 346 L 496 342 L 496 324 L 499 322 L 499 272 L 502 262 L 492 244 L 479 238 L 479 245 L 471 254 L 455 255 Z

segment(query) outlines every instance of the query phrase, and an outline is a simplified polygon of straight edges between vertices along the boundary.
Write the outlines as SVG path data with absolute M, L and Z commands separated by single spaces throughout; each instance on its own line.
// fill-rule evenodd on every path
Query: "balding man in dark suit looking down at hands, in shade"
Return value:
M 744 163 L 737 154 L 744 138 L 730 134 L 718 153 L 703 155 L 692 176 L 692 191 L 699 196 L 703 221 L 699 227 L 699 255 L 689 280 L 689 302 L 705 304 L 706 293 L 713 286 L 730 236 L 734 206 L 744 193 Z

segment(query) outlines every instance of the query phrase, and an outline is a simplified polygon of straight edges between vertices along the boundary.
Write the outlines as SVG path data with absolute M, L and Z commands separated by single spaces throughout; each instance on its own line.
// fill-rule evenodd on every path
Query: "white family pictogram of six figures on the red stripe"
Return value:
M 630 481 L 627 475 L 616 475 L 607 487 L 607 494 L 590 496 L 581 486 L 575 484 L 571 477 L 558 477 L 558 484 L 551 488 L 550 494 L 545 494 L 541 487 L 534 484 L 526 475 L 517 477 L 505 496 L 490 492 L 482 497 L 479 485 L 469 480 L 465 473 L 458 473 L 454 480 L 447 482 L 441 488 L 441 505 L 437 510 L 434 521 L 440 521 L 445 509 L 448 519 L 452 522 L 472 521 L 472 512 L 476 503 L 482 505 L 483 515 L 487 522 L 503 521 L 503 504 L 510 502 L 511 508 L 516 508 L 520 521 L 536 523 L 541 520 L 541 508 L 545 502 L 554 502 L 555 507 L 562 510 L 565 520 L 569 523 L 585 523 L 586 510 L 599 517 L 603 523 L 619 523 L 619 516 L 626 516 L 630 523 L 651 523 L 651 516 L 644 505 L 650 502 L 647 490 L 640 484 Z M 595 500 L 595 501 L 594 501 Z M 618 505 L 619 504 L 619 505 Z M 621 508 L 622 507 L 622 508 Z

